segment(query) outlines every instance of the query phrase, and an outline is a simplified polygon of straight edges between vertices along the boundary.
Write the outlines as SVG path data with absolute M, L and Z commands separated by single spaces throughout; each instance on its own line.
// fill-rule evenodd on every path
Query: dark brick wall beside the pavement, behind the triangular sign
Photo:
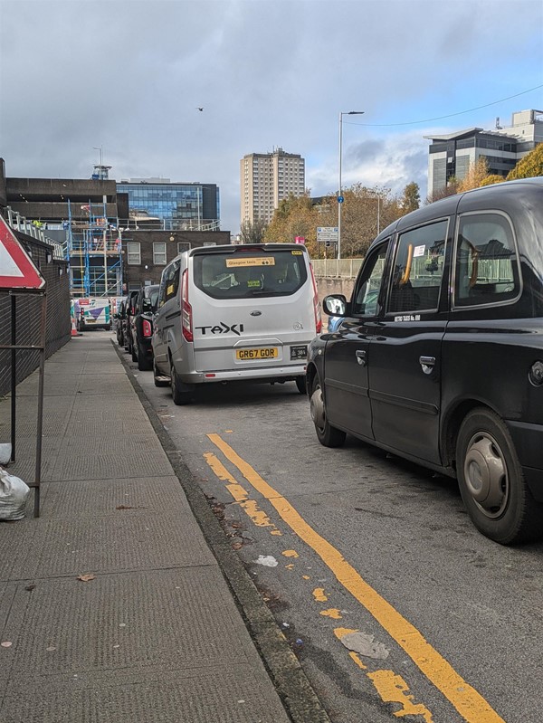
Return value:
M 63 261 L 47 262 L 52 249 L 25 233 L 16 233 L 26 252 L 32 254 L 34 264 L 45 279 L 47 317 L 45 323 L 45 356 L 51 355 L 71 338 L 70 290 L 67 264 Z M 17 294 L 15 299 L 16 344 L 39 344 L 42 297 L 36 294 Z M 12 298 L 0 291 L 0 344 L 11 344 Z M 21 382 L 39 364 L 39 352 L 20 350 L 15 353 L 16 382 Z M 0 349 L 0 395 L 11 388 L 11 350 Z

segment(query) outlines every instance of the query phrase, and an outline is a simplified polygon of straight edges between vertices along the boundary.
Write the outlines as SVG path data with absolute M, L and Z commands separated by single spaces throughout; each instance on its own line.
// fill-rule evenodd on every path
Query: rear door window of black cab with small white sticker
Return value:
M 388 299 L 389 313 L 437 309 L 448 220 L 402 233 Z

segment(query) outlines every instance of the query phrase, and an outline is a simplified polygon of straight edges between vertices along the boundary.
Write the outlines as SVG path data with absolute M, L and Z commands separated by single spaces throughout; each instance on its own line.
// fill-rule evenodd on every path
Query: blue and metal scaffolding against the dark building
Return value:
M 114 297 L 123 292 L 119 220 L 107 204 L 68 201 L 66 258 L 71 297 Z

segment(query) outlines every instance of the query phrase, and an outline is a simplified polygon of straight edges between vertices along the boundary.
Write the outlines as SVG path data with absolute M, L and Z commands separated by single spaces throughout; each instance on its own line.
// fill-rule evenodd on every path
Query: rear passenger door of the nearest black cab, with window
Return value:
M 440 463 L 442 342 L 449 219 L 400 233 L 386 313 L 371 342 L 369 396 L 376 442 Z

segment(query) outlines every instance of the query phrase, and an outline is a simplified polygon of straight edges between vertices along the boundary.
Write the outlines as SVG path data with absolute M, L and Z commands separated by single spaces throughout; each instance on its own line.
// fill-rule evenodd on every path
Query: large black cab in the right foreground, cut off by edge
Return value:
M 321 444 L 346 434 L 458 479 L 502 544 L 543 530 L 543 177 L 424 206 L 379 234 L 310 344 Z

